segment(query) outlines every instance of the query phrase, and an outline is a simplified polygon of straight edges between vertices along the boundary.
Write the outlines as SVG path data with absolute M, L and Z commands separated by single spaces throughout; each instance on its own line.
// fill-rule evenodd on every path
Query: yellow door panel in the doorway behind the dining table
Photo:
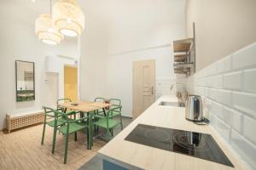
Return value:
M 64 67 L 64 97 L 78 101 L 78 68 Z

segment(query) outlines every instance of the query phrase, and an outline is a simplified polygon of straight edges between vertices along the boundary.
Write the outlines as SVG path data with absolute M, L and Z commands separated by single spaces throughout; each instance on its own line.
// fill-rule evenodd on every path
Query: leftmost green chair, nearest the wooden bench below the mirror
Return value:
M 52 143 L 52 150 L 51 153 L 54 154 L 55 150 L 55 132 L 57 131 L 57 127 L 60 127 L 64 123 L 62 122 L 63 117 L 55 115 L 55 112 L 53 109 L 49 107 L 44 107 L 44 127 L 43 127 L 43 135 L 41 144 L 44 144 L 44 133 L 45 133 L 45 127 L 46 125 L 49 125 L 49 127 L 54 128 L 54 134 L 53 134 L 53 143 Z M 61 111 L 62 109 L 59 109 L 58 111 Z M 49 121 L 48 121 L 49 120 Z

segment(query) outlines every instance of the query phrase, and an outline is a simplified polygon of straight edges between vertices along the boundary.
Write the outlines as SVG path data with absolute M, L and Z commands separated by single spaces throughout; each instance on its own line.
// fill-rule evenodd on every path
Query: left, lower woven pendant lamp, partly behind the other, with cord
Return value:
M 36 34 L 40 41 L 49 45 L 56 45 L 64 38 L 55 28 L 51 16 L 51 0 L 50 0 L 50 14 L 40 14 L 35 22 Z

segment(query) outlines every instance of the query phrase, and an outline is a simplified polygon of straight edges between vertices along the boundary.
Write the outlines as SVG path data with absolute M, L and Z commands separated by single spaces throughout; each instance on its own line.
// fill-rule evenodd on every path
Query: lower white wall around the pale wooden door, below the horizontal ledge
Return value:
M 169 46 L 108 58 L 108 98 L 122 100 L 125 116 L 132 116 L 132 62 L 143 59 L 155 59 L 156 81 L 162 77 L 174 77 L 172 50 Z

